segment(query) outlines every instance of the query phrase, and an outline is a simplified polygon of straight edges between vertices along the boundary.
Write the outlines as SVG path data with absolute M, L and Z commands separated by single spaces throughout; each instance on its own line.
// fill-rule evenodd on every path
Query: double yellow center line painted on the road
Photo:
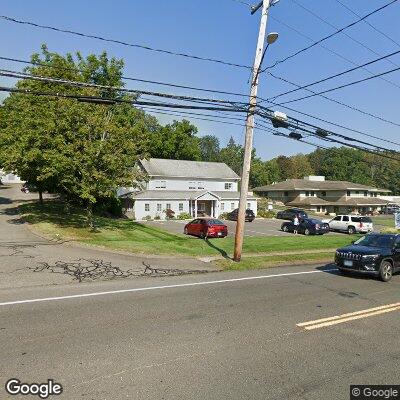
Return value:
M 306 331 L 311 331 L 313 329 L 342 324 L 343 322 L 355 321 L 357 319 L 372 317 L 379 314 L 386 314 L 392 311 L 400 311 L 400 303 L 393 303 L 386 306 L 368 308 L 367 310 L 361 310 L 342 315 L 335 315 L 334 317 L 317 319 L 315 321 L 302 322 L 300 324 L 296 324 L 296 326 Z

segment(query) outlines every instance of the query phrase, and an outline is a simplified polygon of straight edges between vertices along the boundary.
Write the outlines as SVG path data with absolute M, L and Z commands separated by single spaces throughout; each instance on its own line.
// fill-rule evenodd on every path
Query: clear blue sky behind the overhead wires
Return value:
M 246 0 L 245 2 L 250 1 Z M 387 0 L 341 1 L 361 15 L 387 3 Z M 254 0 L 254 2 L 257 1 Z M 342 27 L 357 19 L 337 0 L 296 0 L 296 2 L 337 27 Z M 2 15 L 17 19 L 246 65 L 253 63 L 260 18 L 259 14 L 251 16 L 248 7 L 237 0 L 119 0 L 114 2 L 105 0 L 96 2 L 89 0 L 64 2 L 2 0 L 1 5 Z M 373 15 L 368 21 L 400 43 L 399 15 L 400 2 Z M 279 4 L 271 9 L 268 21 L 268 32 L 277 31 L 280 37 L 268 49 L 265 65 L 270 65 L 311 43 L 277 20 L 283 21 L 314 40 L 334 31 L 332 27 L 307 13 L 293 0 L 280 0 Z M 343 34 L 338 34 L 325 41 L 324 45 L 357 64 L 377 58 L 378 55 L 372 51 L 385 55 L 400 49 L 400 46 L 378 34 L 365 23 L 355 25 L 346 30 L 346 33 L 369 47 L 370 50 Z M 238 93 L 248 93 L 249 90 L 247 83 L 249 72 L 245 69 L 123 47 L 12 24 L 4 20 L 0 20 L 0 37 L 2 38 L 0 56 L 29 59 L 33 52 L 40 49 L 42 43 L 46 43 L 51 51 L 59 53 L 79 50 L 87 55 L 107 50 L 110 55 L 125 60 L 124 74 L 126 76 Z M 400 65 L 400 56 L 394 56 L 391 60 Z M 21 65 L 5 61 L 0 61 L 0 66 L 14 70 L 21 69 Z M 280 64 L 271 72 L 296 83 L 305 84 L 351 67 L 352 65 L 343 58 L 316 46 Z M 392 68 L 395 68 L 395 65 L 388 61 L 381 61 L 369 67 L 375 73 Z M 367 76 L 369 74 L 366 71 L 354 71 L 344 77 L 314 86 L 313 90 L 325 90 Z M 328 96 L 400 124 L 398 111 L 400 72 L 394 72 L 385 78 L 392 83 L 374 79 L 329 93 Z M 15 81 L 0 78 L 0 83 L 10 86 Z M 204 93 L 135 82 L 127 83 L 127 87 L 204 96 Z M 264 74 L 260 80 L 259 95 L 265 98 L 271 97 L 291 88 L 292 86 Z M 297 92 L 279 100 L 290 100 L 305 94 L 307 93 L 304 91 Z M 228 97 L 225 95 L 212 96 Z M 400 142 L 400 127 L 367 117 L 320 97 L 291 103 L 289 106 L 368 134 Z M 274 109 L 285 111 L 282 107 L 274 107 Z M 285 112 L 290 116 L 331 128 L 338 133 L 353 135 L 358 139 L 372 142 L 372 139 L 356 133 L 330 127 L 292 111 Z M 173 119 L 173 117 L 165 115 L 158 115 L 158 117 L 163 123 Z M 220 139 L 222 145 L 226 144 L 230 136 L 233 136 L 239 143 L 243 142 L 244 131 L 240 126 L 200 121 L 190 117 L 187 119 L 199 128 L 200 135 L 214 134 Z M 399 150 L 399 146 L 396 147 L 393 144 L 378 141 L 374 141 L 374 143 Z M 308 145 L 271 136 L 262 131 L 255 132 L 254 145 L 257 154 L 264 159 L 279 154 L 291 155 L 314 150 Z

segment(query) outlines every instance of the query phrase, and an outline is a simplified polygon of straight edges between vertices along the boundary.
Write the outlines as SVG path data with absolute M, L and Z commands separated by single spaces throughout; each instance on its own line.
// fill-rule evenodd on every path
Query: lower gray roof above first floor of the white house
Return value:
M 131 197 L 135 200 L 194 200 L 197 197 L 211 193 L 219 197 L 221 200 L 238 200 L 240 197 L 239 192 L 231 191 L 209 191 L 209 190 L 193 190 L 193 191 L 180 191 L 180 190 L 144 190 L 139 193 L 132 193 Z M 247 196 L 248 200 L 255 200 L 254 196 Z

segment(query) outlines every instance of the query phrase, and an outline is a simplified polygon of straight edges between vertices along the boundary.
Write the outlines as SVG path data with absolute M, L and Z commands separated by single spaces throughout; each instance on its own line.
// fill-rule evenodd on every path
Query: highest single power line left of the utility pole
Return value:
M 138 43 L 128 43 L 128 42 L 125 42 L 122 40 L 110 39 L 110 38 L 106 38 L 103 36 L 85 34 L 85 33 L 81 33 L 81 32 L 72 31 L 69 29 L 62 29 L 62 28 L 57 28 L 57 27 L 49 26 L 49 25 L 41 25 L 36 22 L 24 21 L 24 20 L 9 17 L 7 15 L 0 15 L 0 18 L 6 20 L 8 22 L 13 22 L 13 23 L 20 24 L 20 25 L 29 25 L 29 26 L 33 26 L 35 28 L 47 29 L 47 30 L 52 30 L 55 32 L 61 32 L 61 33 L 67 33 L 69 35 L 80 36 L 80 37 L 89 38 L 89 39 L 97 39 L 97 40 L 101 40 L 103 42 L 120 44 L 122 46 L 134 47 L 134 48 L 138 48 L 138 49 L 142 49 L 142 50 L 168 54 L 171 56 L 185 57 L 185 58 L 190 58 L 190 59 L 194 59 L 194 60 L 198 60 L 198 61 L 207 61 L 207 62 L 222 64 L 222 65 L 228 65 L 230 67 L 245 68 L 245 69 L 249 69 L 249 70 L 252 69 L 252 67 L 250 67 L 248 65 L 244 65 L 244 64 L 223 61 L 223 60 L 219 60 L 216 58 L 201 57 L 201 56 L 196 56 L 193 54 L 175 52 L 175 51 L 171 51 L 171 50 L 158 49 L 158 48 L 154 48 L 154 47 L 150 47 L 150 46 L 146 46 L 146 45 L 141 45 Z

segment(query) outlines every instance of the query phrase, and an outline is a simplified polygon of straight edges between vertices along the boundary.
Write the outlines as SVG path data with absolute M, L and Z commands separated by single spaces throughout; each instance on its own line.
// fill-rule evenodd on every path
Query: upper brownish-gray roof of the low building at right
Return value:
M 312 181 L 307 179 L 288 179 L 272 185 L 259 186 L 253 189 L 254 192 L 268 191 L 293 191 L 293 190 L 372 190 L 378 191 L 373 186 L 361 185 L 359 183 L 347 181 Z M 379 189 L 380 192 L 390 192 L 390 190 Z

